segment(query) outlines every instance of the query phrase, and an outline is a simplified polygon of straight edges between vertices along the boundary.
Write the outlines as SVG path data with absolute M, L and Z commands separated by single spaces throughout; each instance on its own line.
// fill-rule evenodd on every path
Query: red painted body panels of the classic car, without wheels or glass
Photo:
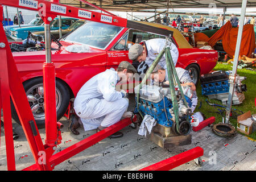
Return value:
M 52 62 L 55 63 L 55 76 L 63 80 L 72 90 L 74 96 L 81 86 L 94 75 L 108 68 L 117 68 L 121 61 L 129 61 L 128 51 L 110 51 L 114 44 L 128 30 L 123 31 L 105 49 L 92 48 L 88 53 L 69 53 L 65 47 L 73 43 L 61 42 L 60 51 L 52 51 Z M 176 42 L 176 41 L 175 41 Z M 55 43 L 52 47 L 57 48 Z M 45 61 L 44 51 L 13 52 L 22 82 L 34 77 L 43 76 L 42 66 Z M 200 75 L 211 71 L 217 63 L 217 52 L 204 49 L 180 49 L 176 67 L 186 68 L 189 64 L 196 63 L 200 67 Z

